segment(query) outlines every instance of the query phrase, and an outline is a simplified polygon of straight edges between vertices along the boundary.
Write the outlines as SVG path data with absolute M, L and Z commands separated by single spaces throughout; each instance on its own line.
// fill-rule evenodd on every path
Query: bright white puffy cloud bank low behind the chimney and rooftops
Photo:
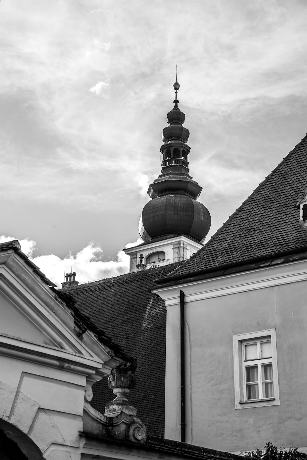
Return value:
M 11 236 L 0 236 L 0 243 L 12 241 L 16 238 Z M 143 242 L 140 238 L 133 243 L 128 243 L 126 247 L 136 246 Z M 65 273 L 71 270 L 76 272 L 76 280 L 85 283 L 111 276 L 122 275 L 129 272 L 129 256 L 122 250 L 118 251 L 116 257 L 110 260 L 103 260 L 103 249 L 99 243 L 90 242 L 86 247 L 75 255 L 70 252 L 63 259 L 55 254 L 42 255 L 33 257 L 36 249 L 36 243 L 29 238 L 19 240 L 21 250 L 40 270 L 61 288 L 61 282 L 64 281 Z

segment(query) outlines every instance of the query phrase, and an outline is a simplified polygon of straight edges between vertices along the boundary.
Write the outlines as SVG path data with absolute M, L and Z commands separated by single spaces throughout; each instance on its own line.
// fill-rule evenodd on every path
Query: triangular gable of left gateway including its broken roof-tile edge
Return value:
M 76 316 L 77 309 L 62 301 L 7 245 L 3 250 L 0 245 L 0 354 L 10 344 L 22 352 L 30 350 L 33 359 L 48 355 L 94 368 L 101 368 L 102 363 L 108 367 L 109 360 L 117 359 L 83 324 L 87 318 Z M 103 331 L 96 328 L 95 334 L 103 335 Z

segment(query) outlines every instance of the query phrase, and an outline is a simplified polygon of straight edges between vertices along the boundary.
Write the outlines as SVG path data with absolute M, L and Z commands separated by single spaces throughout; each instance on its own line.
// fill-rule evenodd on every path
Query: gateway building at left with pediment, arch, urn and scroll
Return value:
M 127 399 L 135 360 L 55 289 L 17 241 L 0 244 L 0 320 L 1 459 L 239 460 L 147 436 Z M 103 378 L 114 394 L 99 412 L 92 386 Z

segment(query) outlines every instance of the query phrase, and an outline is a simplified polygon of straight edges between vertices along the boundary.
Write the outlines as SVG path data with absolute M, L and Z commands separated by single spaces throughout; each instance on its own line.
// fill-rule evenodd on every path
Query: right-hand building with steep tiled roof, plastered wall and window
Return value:
M 154 293 L 166 302 L 165 436 L 231 452 L 307 450 L 307 136 Z M 184 301 L 185 325 L 180 322 Z

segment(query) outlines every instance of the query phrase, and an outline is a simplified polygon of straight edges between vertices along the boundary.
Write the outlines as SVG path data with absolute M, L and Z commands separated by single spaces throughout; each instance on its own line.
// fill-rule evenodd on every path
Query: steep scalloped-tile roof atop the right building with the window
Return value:
M 307 232 L 299 226 L 295 205 L 306 188 L 307 135 L 209 242 L 168 276 L 305 246 Z

